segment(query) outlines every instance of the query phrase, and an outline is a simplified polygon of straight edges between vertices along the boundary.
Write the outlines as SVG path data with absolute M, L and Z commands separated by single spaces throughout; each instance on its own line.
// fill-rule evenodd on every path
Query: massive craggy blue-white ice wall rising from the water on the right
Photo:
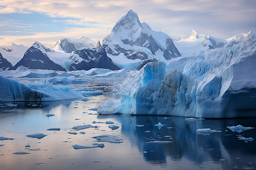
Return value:
M 102 102 L 97 112 L 255 117 L 255 66 L 254 40 L 147 63 L 135 78 L 123 82 L 121 99 Z

